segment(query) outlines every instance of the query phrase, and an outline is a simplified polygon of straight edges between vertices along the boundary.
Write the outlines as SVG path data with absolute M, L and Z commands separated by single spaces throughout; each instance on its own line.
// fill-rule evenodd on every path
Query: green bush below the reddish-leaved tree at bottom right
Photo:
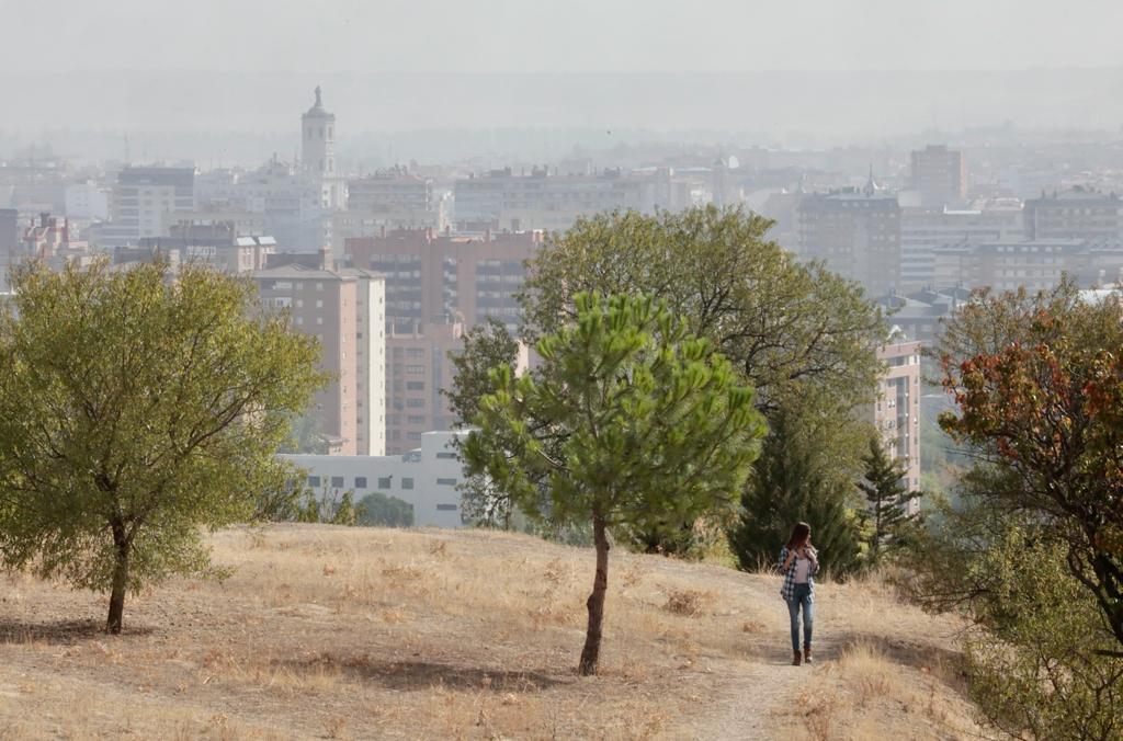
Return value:
M 1110 656 L 1114 637 L 1048 528 L 993 507 L 990 492 L 1016 485 L 993 467 L 965 478 L 962 504 L 942 504 L 907 551 L 912 592 L 971 620 L 968 686 L 996 728 L 1017 739 L 1119 739 L 1123 662 Z

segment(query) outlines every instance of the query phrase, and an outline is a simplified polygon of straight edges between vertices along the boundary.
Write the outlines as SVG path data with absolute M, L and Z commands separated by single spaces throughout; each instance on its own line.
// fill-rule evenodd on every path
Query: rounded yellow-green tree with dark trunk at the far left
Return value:
M 200 574 L 200 525 L 254 516 L 325 378 L 313 339 L 199 266 L 12 272 L 0 311 L 0 556 L 110 591 Z

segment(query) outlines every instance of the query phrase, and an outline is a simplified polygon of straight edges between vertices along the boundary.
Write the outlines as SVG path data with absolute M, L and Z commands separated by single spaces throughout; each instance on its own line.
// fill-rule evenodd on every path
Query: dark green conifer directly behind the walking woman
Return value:
M 838 461 L 821 454 L 821 437 L 792 412 L 773 415 L 760 457 L 741 494 L 741 512 L 729 530 L 729 545 L 745 570 L 770 567 L 792 527 L 811 525 L 824 571 L 836 577 L 861 566 L 861 530 L 850 505 L 852 484 Z M 818 434 L 814 432 L 818 431 Z

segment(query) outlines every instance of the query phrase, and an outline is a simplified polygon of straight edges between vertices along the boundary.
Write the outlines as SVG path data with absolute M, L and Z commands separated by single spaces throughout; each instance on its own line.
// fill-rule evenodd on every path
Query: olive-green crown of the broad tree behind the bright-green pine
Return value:
M 772 225 L 712 205 L 581 219 L 530 262 L 526 338 L 573 321 L 577 293 L 652 295 L 730 359 L 761 411 L 819 390 L 824 411 L 849 412 L 880 376 L 880 312 L 856 283 L 770 241 Z

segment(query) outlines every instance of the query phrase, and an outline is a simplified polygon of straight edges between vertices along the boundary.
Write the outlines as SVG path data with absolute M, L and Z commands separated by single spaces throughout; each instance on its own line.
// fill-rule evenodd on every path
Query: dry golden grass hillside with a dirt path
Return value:
M 602 673 L 574 668 L 592 551 L 475 531 L 212 538 L 225 582 L 126 604 L 6 577 L 0 738 L 877 739 L 977 731 L 957 625 L 878 584 L 816 591 L 791 667 L 776 577 L 613 550 Z

